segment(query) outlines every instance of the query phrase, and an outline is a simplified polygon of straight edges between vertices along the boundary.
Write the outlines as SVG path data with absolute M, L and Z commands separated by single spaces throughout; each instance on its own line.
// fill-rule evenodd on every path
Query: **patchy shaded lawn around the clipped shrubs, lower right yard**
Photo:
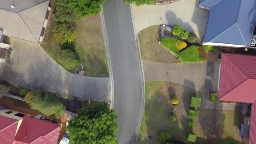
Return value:
M 163 97 L 162 102 L 157 98 Z M 171 122 L 168 114 L 171 104 L 170 98 L 176 96 L 179 104 L 176 107 L 176 121 Z M 243 115 L 234 111 L 215 111 L 198 109 L 199 117 L 193 119 L 194 125 L 188 126 L 192 119 L 187 117 L 189 110 L 189 97 L 201 96 L 200 91 L 187 88 L 184 85 L 168 82 L 147 82 L 144 117 L 139 133 L 139 144 L 157 144 L 157 137 L 161 131 L 172 133 L 171 140 L 186 141 L 187 133 L 197 135 L 197 144 L 206 144 L 215 137 L 232 136 L 240 141 L 238 124 L 243 122 Z

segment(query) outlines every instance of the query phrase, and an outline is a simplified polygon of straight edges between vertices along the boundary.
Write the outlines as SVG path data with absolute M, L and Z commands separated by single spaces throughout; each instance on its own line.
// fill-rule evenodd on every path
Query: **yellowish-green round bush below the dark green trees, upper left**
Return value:
M 77 33 L 69 26 L 69 24 L 58 24 L 52 29 L 54 40 L 57 43 L 75 42 Z

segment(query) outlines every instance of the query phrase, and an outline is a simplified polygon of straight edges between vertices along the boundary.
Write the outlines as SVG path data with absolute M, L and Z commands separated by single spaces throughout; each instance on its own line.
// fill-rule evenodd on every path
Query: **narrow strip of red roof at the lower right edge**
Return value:
M 251 104 L 251 126 L 249 135 L 249 144 L 256 144 L 256 102 Z

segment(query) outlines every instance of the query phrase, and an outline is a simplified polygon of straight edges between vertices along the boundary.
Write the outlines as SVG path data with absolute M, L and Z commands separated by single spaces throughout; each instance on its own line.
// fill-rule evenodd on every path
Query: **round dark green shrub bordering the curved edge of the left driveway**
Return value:
M 80 61 L 70 49 L 62 50 L 57 56 L 57 59 L 67 69 L 75 69 L 80 65 Z

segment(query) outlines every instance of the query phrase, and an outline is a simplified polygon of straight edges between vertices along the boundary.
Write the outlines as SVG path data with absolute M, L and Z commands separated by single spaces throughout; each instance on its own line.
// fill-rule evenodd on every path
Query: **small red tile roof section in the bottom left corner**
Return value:
M 0 143 L 13 144 L 18 120 L 0 115 Z

